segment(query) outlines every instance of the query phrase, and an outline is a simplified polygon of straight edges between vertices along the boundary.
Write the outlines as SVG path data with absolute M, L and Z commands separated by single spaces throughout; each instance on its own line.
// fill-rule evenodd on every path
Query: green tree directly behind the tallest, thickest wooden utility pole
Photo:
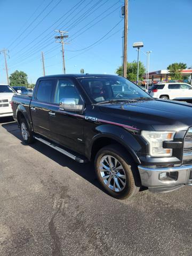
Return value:
M 122 76 L 123 67 L 120 66 L 116 69 L 116 74 Z M 142 80 L 142 76 L 145 74 L 145 66 L 139 61 L 139 80 Z M 137 61 L 127 62 L 127 78 L 130 81 L 137 81 Z

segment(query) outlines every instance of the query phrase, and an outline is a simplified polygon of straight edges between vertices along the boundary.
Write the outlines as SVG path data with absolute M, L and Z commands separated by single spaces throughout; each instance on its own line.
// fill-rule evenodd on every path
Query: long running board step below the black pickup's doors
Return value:
M 74 159 L 75 161 L 77 161 L 78 163 L 86 163 L 87 162 L 87 159 L 82 159 L 81 157 L 79 156 L 75 156 L 74 154 L 71 154 L 69 153 L 67 150 L 57 146 L 56 144 L 52 143 L 52 142 L 49 142 L 43 138 L 40 138 L 40 137 L 36 137 L 34 136 L 34 138 L 36 140 L 39 140 L 41 142 L 43 142 L 44 144 L 46 144 L 47 146 L 51 147 L 51 148 L 54 148 L 55 150 L 59 151 L 60 153 L 62 153 L 63 155 L 66 155 L 72 159 Z

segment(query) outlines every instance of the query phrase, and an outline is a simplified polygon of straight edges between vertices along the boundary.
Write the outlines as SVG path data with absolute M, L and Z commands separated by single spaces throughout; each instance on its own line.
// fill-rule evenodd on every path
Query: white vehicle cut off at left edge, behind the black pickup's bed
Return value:
M 11 99 L 16 92 L 11 86 L 0 84 L 0 118 L 4 116 L 12 116 Z

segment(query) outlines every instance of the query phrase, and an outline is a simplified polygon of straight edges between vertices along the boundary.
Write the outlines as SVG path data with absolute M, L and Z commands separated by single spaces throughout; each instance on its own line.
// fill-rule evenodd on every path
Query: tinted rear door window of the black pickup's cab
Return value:
M 44 102 L 51 102 L 51 95 L 54 80 L 42 80 L 38 84 L 36 99 Z

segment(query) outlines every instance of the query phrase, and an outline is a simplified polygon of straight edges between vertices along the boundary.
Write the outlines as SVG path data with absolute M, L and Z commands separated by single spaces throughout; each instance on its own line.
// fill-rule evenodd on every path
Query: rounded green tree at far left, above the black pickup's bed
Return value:
M 27 74 L 23 71 L 15 70 L 10 75 L 10 85 L 11 86 L 26 86 L 28 85 Z

